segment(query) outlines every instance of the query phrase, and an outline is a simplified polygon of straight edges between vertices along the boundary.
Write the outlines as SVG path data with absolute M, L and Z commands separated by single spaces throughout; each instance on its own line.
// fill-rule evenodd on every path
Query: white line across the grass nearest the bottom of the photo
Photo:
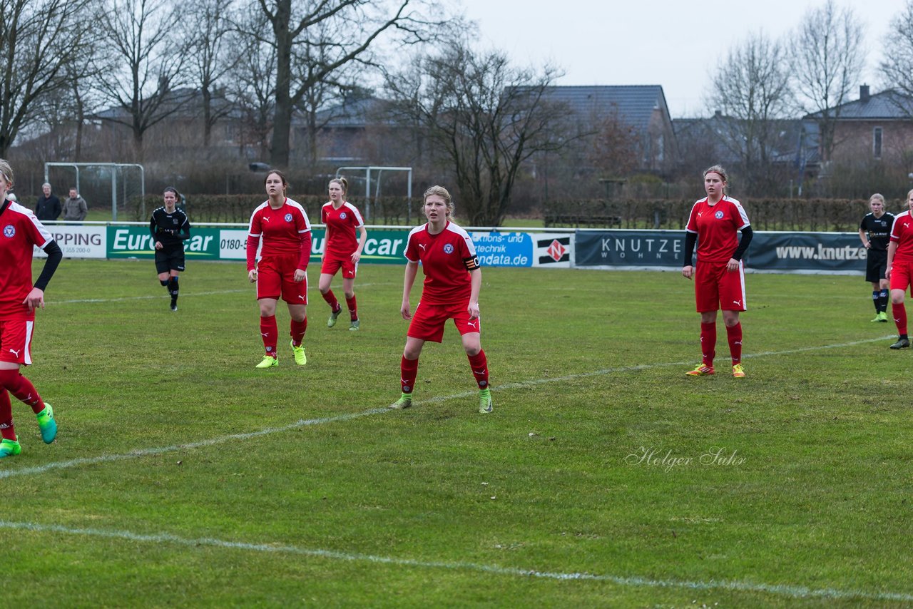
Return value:
M 835 598 L 835 599 L 868 599 L 876 601 L 913 601 L 913 594 L 895 592 L 867 592 L 864 590 L 840 590 L 837 588 L 808 588 L 792 584 L 771 584 L 740 582 L 739 580 L 710 580 L 708 582 L 692 582 L 688 580 L 654 580 L 644 577 L 624 577 L 621 575 L 601 575 L 598 573 L 564 573 L 537 571 L 535 569 L 518 569 L 513 567 L 500 567 L 498 565 L 478 564 L 475 562 L 440 562 L 416 561 L 408 558 L 394 558 L 392 556 L 376 556 L 335 550 L 311 550 L 292 545 L 278 545 L 266 543 L 247 543 L 244 541 L 226 541 L 213 538 L 187 539 L 157 533 L 143 535 L 129 530 L 104 530 L 104 529 L 74 529 L 60 525 L 45 525 L 31 522 L 11 522 L 0 520 L 0 528 L 7 530 L 30 530 L 40 533 L 64 533 L 68 535 L 85 535 L 126 541 L 139 541 L 145 543 L 172 543 L 190 548 L 209 546 L 226 550 L 240 550 L 246 552 L 265 552 L 298 554 L 336 561 L 374 562 L 379 564 L 394 564 L 405 567 L 419 567 L 427 569 L 449 569 L 453 571 L 477 571 L 492 575 L 509 575 L 513 577 L 535 577 L 540 579 L 559 581 L 590 581 L 608 582 L 622 586 L 643 586 L 649 588 L 685 588 L 687 590 L 729 590 L 734 592 L 770 593 L 792 598 Z

